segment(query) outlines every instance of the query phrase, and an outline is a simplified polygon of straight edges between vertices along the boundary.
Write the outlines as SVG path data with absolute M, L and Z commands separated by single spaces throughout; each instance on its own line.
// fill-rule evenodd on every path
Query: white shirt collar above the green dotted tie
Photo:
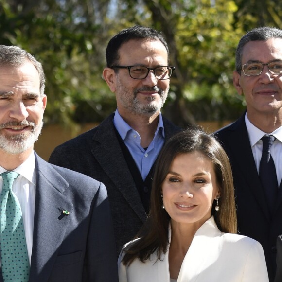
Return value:
M 0 166 L 0 174 L 7 171 L 3 167 Z M 17 172 L 19 175 L 26 178 L 32 184 L 36 185 L 36 173 L 35 173 L 35 155 L 34 151 L 29 155 L 29 157 L 17 168 L 13 169 L 13 171 Z

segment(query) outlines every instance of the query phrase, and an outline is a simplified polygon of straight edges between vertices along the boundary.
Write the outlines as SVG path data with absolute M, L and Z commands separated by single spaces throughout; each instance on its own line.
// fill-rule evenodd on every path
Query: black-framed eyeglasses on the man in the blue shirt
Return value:
M 112 66 L 112 69 L 128 69 L 129 75 L 134 79 L 144 79 L 148 76 L 149 71 L 153 71 L 157 79 L 169 79 L 175 67 L 160 66 L 157 68 L 147 68 L 144 66 Z

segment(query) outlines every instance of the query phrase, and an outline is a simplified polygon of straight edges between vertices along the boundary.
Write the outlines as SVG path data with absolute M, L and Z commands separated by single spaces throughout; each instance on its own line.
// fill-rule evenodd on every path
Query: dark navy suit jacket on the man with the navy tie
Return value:
M 253 158 L 245 114 L 235 123 L 215 132 L 215 135 L 232 166 L 238 232 L 262 244 L 271 282 L 276 270 L 276 239 L 282 234 L 282 189 L 279 190 L 275 213 L 271 217 Z

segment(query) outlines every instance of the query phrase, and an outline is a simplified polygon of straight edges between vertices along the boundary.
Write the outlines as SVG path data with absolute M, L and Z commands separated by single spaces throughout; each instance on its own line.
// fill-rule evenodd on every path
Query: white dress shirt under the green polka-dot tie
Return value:
M 0 166 L 0 174 L 5 171 L 7 170 Z M 13 171 L 19 174 L 18 178 L 13 182 L 12 191 L 18 197 L 18 201 L 21 207 L 27 252 L 29 257 L 29 263 L 31 263 L 36 187 L 34 152 L 30 154 L 30 156 L 25 162 L 23 162 Z M 2 177 L 0 177 L 0 193 L 2 192 L 2 187 L 3 179 Z

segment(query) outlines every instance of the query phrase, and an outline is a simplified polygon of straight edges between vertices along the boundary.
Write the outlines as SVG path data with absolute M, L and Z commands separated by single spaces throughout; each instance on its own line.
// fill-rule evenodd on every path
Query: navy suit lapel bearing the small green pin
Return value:
M 35 159 L 37 181 L 29 281 L 45 282 L 48 281 L 58 248 L 65 237 L 73 205 L 62 194 L 69 186 L 66 180 L 37 155 Z M 70 215 L 63 214 L 62 210 L 68 210 Z

